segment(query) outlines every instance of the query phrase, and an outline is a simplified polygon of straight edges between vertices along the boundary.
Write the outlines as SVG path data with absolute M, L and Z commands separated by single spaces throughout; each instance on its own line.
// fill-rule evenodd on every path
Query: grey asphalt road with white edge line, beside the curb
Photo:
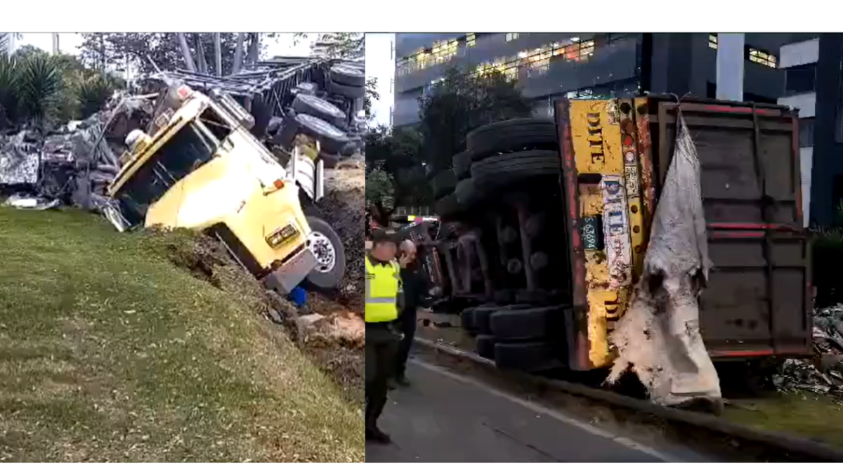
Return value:
M 390 392 L 367 462 L 705 461 L 665 452 L 566 417 L 482 382 L 411 359 L 412 386 Z

